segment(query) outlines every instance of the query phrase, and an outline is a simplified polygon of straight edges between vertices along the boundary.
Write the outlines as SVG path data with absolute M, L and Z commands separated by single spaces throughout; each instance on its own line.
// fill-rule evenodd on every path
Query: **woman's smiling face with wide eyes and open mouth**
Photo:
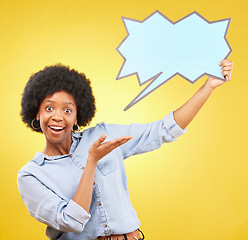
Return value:
M 47 144 L 71 144 L 71 131 L 77 125 L 77 105 L 70 93 L 56 92 L 47 96 L 37 114 Z

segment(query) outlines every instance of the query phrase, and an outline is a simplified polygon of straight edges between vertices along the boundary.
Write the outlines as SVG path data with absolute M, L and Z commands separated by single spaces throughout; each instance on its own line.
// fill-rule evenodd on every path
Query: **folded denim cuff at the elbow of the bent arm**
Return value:
M 90 213 L 87 213 L 81 206 L 79 206 L 73 200 L 68 203 L 65 209 L 65 213 L 83 225 L 85 225 L 91 217 Z

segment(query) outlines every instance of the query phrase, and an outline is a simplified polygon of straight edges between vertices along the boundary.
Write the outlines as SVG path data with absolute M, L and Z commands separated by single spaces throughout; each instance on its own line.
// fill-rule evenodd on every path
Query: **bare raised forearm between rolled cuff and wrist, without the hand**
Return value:
M 182 129 L 194 119 L 213 91 L 214 88 L 206 82 L 184 105 L 174 111 L 174 119 Z

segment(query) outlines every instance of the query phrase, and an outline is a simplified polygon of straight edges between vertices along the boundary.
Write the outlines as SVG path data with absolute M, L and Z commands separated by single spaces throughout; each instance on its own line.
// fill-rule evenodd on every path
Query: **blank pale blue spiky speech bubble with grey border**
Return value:
M 225 81 L 219 63 L 232 52 L 230 18 L 209 22 L 194 11 L 173 22 L 157 10 L 143 21 L 122 20 L 127 36 L 117 47 L 124 62 L 116 79 L 136 75 L 140 86 L 150 82 L 124 111 L 176 75 L 192 84 L 204 75 Z

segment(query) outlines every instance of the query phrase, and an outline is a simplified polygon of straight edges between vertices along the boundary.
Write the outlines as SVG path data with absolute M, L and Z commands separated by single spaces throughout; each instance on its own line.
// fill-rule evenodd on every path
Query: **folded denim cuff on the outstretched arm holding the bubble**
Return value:
M 168 115 L 166 115 L 163 118 L 163 121 L 164 121 L 165 128 L 167 129 L 169 134 L 171 134 L 171 136 L 174 138 L 180 137 L 181 135 L 183 135 L 187 131 L 186 128 L 182 129 L 176 123 L 174 116 L 173 116 L 173 111 L 171 113 L 169 113 Z

